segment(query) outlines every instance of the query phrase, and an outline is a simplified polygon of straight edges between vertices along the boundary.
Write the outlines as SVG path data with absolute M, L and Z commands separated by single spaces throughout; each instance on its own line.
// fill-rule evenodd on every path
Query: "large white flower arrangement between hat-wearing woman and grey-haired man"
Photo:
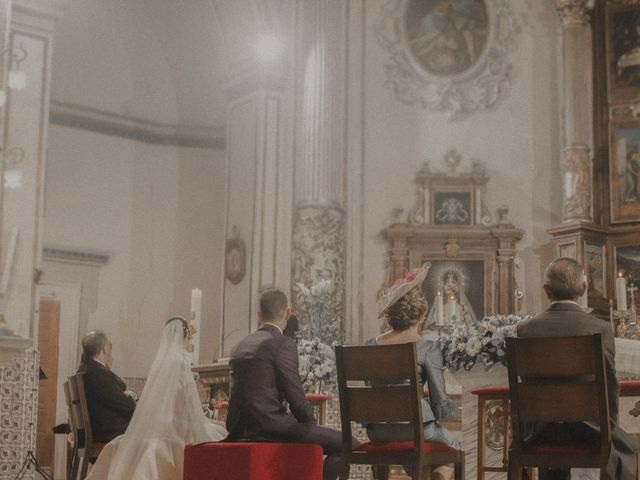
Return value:
M 474 324 L 455 325 L 451 333 L 438 339 L 444 366 L 455 372 L 471 370 L 478 362 L 486 370 L 496 363 L 506 365 L 505 338 L 516 336 L 516 326 L 523 319 L 517 315 L 494 315 Z

